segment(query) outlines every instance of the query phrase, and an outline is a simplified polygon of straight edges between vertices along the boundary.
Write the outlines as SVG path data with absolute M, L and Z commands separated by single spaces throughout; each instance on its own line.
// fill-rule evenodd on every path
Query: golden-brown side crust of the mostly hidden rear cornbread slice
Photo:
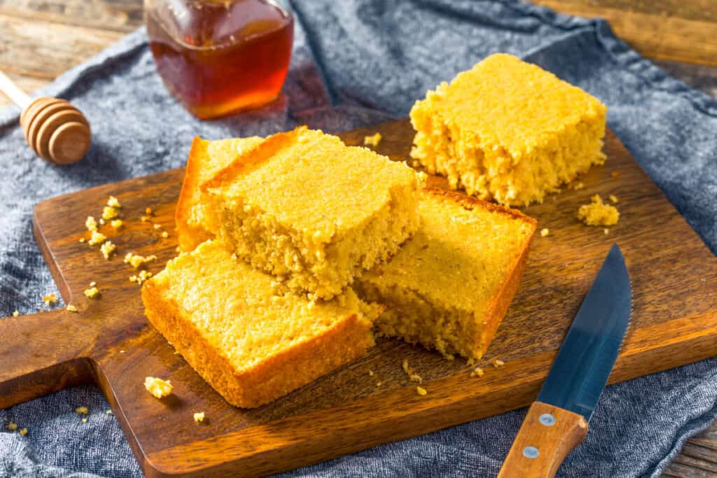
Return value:
M 191 219 L 191 207 L 193 206 L 194 191 L 199 186 L 199 171 L 204 168 L 201 158 L 206 155 L 206 148 L 209 141 L 196 136 L 191 142 L 189 148 L 189 156 L 186 159 L 186 168 L 184 171 L 184 181 L 182 181 L 179 199 L 177 201 L 176 211 L 174 213 L 174 221 L 177 229 L 177 239 L 179 248 L 183 251 L 191 251 L 196 246 L 211 237 L 209 231 L 203 227 L 197 227 L 189 224 Z

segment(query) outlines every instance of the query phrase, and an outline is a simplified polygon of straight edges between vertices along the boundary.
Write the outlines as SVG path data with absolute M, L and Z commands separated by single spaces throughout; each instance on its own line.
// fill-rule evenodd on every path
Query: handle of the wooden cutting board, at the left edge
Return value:
M 0 319 L 0 408 L 92 381 L 87 321 L 65 309 Z

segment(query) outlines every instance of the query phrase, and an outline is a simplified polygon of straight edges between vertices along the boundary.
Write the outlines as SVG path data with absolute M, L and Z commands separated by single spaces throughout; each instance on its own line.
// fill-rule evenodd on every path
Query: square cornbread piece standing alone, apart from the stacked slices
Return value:
M 415 103 L 411 156 L 481 199 L 542 202 L 604 162 L 606 112 L 552 73 L 494 54 Z

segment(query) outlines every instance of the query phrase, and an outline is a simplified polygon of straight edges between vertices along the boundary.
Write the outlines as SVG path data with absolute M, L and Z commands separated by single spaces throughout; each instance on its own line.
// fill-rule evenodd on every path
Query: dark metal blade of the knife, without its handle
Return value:
M 590 420 L 630 323 L 630 274 L 613 244 L 575 316 L 538 401 Z

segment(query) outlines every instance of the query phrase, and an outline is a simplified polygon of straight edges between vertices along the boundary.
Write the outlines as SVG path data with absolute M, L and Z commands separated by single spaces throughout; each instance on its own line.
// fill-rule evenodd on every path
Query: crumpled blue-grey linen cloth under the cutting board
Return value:
M 42 199 L 184 164 L 194 135 L 267 135 L 308 123 L 337 131 L 407 115 L 438 82 L 493 52 L 536 62 L 599 97 L 612 129 L 690 225 L 717 251 L 717 102 L 619 41 L 607 23 L 518 1 L 305 0 L 284 95 L 269 107 L 202 122 L 166 92 L 140 30 L 62 75 L 44 93 L 85 112 L 84 161 L 52 166 L 25 146 L 17 110 L 0 112 L 0 317 L 37 311 L 56 291 L 32 241 Z M 1 347 L 0 341 L 0 347 Z M 1 365 L 0 365 L 1 366 Z M 587 440 L 559 475 L 657 476 L 717 415 L 717 360 L 610 386 Z M 90 408 L 81 424 L 75 407 Z M 2 477 L 138 477 L 141 469 L 94 386 L 22 403 L 0 418 Z M 288 476 L 494 476 L 525 410 L 378 446 Z M 4 427 L 3 427 L 4 428 Z

